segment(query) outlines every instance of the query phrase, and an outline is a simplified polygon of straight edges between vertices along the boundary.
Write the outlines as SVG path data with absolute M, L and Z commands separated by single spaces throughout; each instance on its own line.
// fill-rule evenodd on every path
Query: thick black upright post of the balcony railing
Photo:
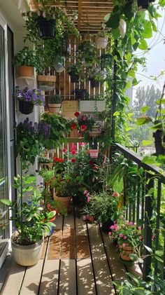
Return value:
M 146 181 L 149 181 L 150 174 L 146 174 Z M 152 218 L 152 206 L 153 206 L 153 193 L 148 195 L 150 188 L 154 188 L 154 180 L 150 179 L 148 184 L 146 184 L 146 195 L 145 196 L 145 223 L 144 223 L 144 245 L 149 248 L 152 248 L 152 228 L 150 224 L 150 219 Z M 148 250 L 144 247 L 144 255 L 147 257 L 144 259 L 143 264 L 143 280 L 147 280 L 147 276 L 150 273 L 151 266 L 151 256 Z

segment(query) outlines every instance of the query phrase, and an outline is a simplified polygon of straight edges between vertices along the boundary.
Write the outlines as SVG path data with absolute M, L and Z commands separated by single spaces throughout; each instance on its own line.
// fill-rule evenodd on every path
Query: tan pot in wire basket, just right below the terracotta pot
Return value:
M 42 76 L 39 75 L 37 77 L 38 80 L 38 88 L 43 91 L 52 91 L 55 89 L 55 76 Z

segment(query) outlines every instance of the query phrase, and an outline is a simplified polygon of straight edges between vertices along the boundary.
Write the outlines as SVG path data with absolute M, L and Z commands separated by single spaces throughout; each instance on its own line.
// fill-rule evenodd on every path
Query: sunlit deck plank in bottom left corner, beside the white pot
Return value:
M 1 291 L 2 295 L 19 294 L 25 270 L 24 266 L 13 261 Z

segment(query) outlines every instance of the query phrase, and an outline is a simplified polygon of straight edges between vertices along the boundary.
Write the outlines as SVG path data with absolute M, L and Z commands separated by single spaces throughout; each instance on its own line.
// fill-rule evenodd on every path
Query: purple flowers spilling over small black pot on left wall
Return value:
M 30 102 L 31 104 L 41 105 L 44 104 L 44 97 L 41 95 L 40 89 L 28 89 L 27 87 L 23 90 L 19 88 L 16 89 L 15 96 L 18 100 L 22 100 L 24 102 Z

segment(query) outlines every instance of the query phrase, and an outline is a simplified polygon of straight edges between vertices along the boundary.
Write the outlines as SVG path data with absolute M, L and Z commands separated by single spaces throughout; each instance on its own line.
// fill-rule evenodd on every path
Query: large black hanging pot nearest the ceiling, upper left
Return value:
M 38 32 L 42 39 L 55 37 L 55 20 L 46 20 L 43 16 L 36 19 Z

